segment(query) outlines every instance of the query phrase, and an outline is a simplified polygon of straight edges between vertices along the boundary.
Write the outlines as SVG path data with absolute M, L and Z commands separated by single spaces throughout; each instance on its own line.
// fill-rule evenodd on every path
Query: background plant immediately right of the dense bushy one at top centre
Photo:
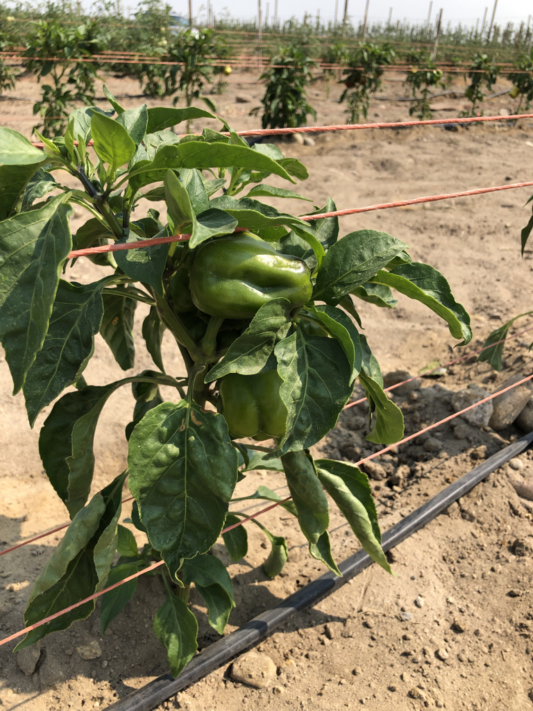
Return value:
M 346 88 L 339 99 L 339 103 L 345 101 L 348 104 L 345 114 L 350 123 L 357 123 L 361 114 L 365 119 L 368 117 L 370 97 L 379 91 L 385 67 L 395 57 L 396 53 L 388 43 L 378 46 L 370 42 L 361 44 L 350 55 L 349 68 L 344 70 L 342 80 Z

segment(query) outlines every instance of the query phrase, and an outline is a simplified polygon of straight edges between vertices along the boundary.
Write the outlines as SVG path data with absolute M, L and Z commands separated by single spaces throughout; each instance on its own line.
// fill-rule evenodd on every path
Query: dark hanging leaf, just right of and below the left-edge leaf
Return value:
M 110 279 L 83 285 L 60 280 L 43 348 L 23 387 L 31 427 L 43 407 L 76 383 L 85 370 L 104 314 L 102 289 Z

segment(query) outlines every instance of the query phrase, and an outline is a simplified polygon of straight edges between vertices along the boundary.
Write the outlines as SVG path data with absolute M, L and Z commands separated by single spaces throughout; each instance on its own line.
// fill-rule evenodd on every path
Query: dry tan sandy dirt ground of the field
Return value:
M 114 77 L 108 77 L 107 82 L 115 95 L 125 97 L 126 107 L 141 102 L 135 82 Z M 310 101 L 318 110 L 317 124 L 344 122 L 343 107 L 335 102 L 339 94 L 334 84 L 329 98 L 323 83 L 313 86 Z M 18 100 L 0 103 L 1 124 L 29 137 L 33 119 L 28 100 L 37 95 L 33 80 L 18 82 Z M 250 118 L 248 112 L 259 105 L 261 95 L 257 76 L 235 72 L 225 92 L 215 100 L 220 114 L 235 129 L 244 129 L 259 125 L 259 119 Z M 369 120 L 409 119 L 409 104 L 397 100 L 402 96 L 401 84 L 387 82 L 381 96 L 388 100 L 372 102 Z M 456 116 L 463 108 L 461 100 L 451 97 L 441 97 L 435 105 L 436 117 Z M 485 112 L 512 109 L 511 100 L 504 95 L 488 103 Z M 215 122 L 210 125 L 217 127 Z M 197 123 L 194 129 L 201 126 Z M 316 205 L 323 205 L 331 196 L 338 208 L 349 208 L 531 180 L 528 166 L 533 156 L 533 124 L 524 119 L 519 125 L 498 122 L 455 132 L 417 127 L 321 134 L 314 137 L 314 145 L 287 143 L 281 147 L 308 167 L 311 177 L 298 191 L 313 198 Z M 524 203 L 531 193 L 531 189 L 521 188 L 345 217 L 341 234 L 360 228 L 390 232 L 411 245 L 415 260 L 440 269 L 472 315 L 475 347 L 505 320 L 533 306 L 531 254 L 527 252 L 523 259 L 519 256 L 519 231 L 529 218 L 529 207 L 524 208 Z M 295 213 L 301 210 L 301 203 L 287 205 L 284 208 Z M 75 227 L 79 223 L 78 215 Z M 80 260 L 71 277 L 90 281 L 92 270 Z M 462 352 L 461 348 L 453 351 L 453 339 L 434 314 L 407 299 L 401 299 L 394 311 L 362 304 L 360 312 L 384 373 L 402 369 L 416 374 L 430 361 L 446 363 Z M 140 340 L 139 324 L 137 331 Z M 453 391 L 468 383 L 490 391 L 510 374 L 528 375 L 531 357 L 527 346 L 531 340 L 531 334 L 525 334 L 513 342 L 505 358 L 505 373 L 496 379 L 488 365 L 476 364 L 471 358 L 446 368 L 437 380 L 424 380 L 397 392 L 394 400 L 406 414 L 407 434 L 451 414 Z M 166 342 L 165 346 L 171 371 L 180 372 L 172 344 Z M 149 367 L 141 348 L 139 353 L 137 368 Z M 0 542 L 6 547 L 63 523 L 66 512 L 43 475 L 38 456 L 38 429 L 51 406 L 30 430 L 22 398 L 11 397 L 9 371 L 0 360 Z M 85 376 L 93 384 L 122 377 L 100 338 Z M 104 410 L 96 438 L 95 490 L 124 467 L 123 432 L 131 407 L 131 397 L 124 390 L 114 395 Z M 382 467 L 377 476 L 387 479 L 372 481 L 382 528 L 400 520 L 519 434 L 514 427 L 494 432 L 489 427 L 454 422 L 431 437 L 426 435 L 382 456 L 377 460 Z M 375 451 L 365 445 L 364 435 L 365 410 L 355 407 L 343 414 L 335 431 L 316 449 L 334 458 L 357 461 L 361 454 Z M 517 469 L 503 466 L 399 545 L 392 553 L 394 577 L 370 567 L 313 609 L 295 615 L 264 641 L 258 649 L 277 669 L 266 688 L 232 680 L 227 663 L 159 708 L 533 709 L 532 506 L 517 496 L 510 483 L 518 469 L 523 476 L 533 474 L 533 459 L 530 452 L 518 459 L 512 463 Z M 239 484 L 240 491 L 254 491 L 259 483 L 283 487 L 281 476 L 257 473 Z M 230 566 L 237 609 L 228 632 L 324 572 L 308 557 L 302 535 L 290 518 L 276 510 L 265 520 L 273 533 L 288 538 L 289 562 L 279 577 L 267 579 L 261 567 L 266 544 L 259 530 L 249 525 L 249 555 Z M 338 560 L 357 550 L 352 534 L 335 515 L 331 530 Z M 0 637 L 23 625 L 33 580 L 59 539 L 60 533 L 50 535 L 0 558 Z M 519 543 L 515 543 L 517 539 Z M 223 557 L 222 545 L 219 548 Z M 165 653 L 151 631 L 154 603 L 162 599 L 157 578 L 141 579 L 136 598 L 104 636 L 99 633 L 95 614 L 45 638 L 36 670 L 28 675 L 11 654 L 14 645 L 2 647 L 0 707 L 17 711 L 105 708 L 166 673 Z M 200 644 L 205 647 L 217 635 L 207 626 L 194 596 L 193 604 L 200 616 Z M 26 671 L 31 672 L 33 665 Z

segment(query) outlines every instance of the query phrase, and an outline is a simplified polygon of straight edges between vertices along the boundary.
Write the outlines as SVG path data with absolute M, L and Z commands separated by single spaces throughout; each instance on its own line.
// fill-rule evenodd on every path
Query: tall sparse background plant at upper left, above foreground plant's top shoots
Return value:
M 45 137 L 54 137 L 65 131 L 76 102 L 90 105 L 95 97 L 97 63 L 88 59 L 105 44 L 97 21 L 77 27 L 61 26 L 55 19 L 35 23 L 25 53 L 30 58 L 26 68 L 39 82 L 49 77 L 50 83 L 43 84 L 41 100 L 33 105 L 33 113 L 43 119 L 34 129 L 42 127 Z

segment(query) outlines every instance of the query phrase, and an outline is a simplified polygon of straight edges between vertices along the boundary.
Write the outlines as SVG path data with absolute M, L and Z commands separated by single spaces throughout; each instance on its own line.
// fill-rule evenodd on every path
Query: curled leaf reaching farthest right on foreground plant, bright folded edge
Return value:
M 459 346 L 464 346 L 472 340 L 470 316 L 464 306 L 453 298 L 450 285 L 441 272 L 429 264 L 401 264 L 391 272 L 378 272 L 370 281 L 392 287 L 410 299 L 416 299 L 428 306 L 446 321 L 453 338 L 463 338 Z

